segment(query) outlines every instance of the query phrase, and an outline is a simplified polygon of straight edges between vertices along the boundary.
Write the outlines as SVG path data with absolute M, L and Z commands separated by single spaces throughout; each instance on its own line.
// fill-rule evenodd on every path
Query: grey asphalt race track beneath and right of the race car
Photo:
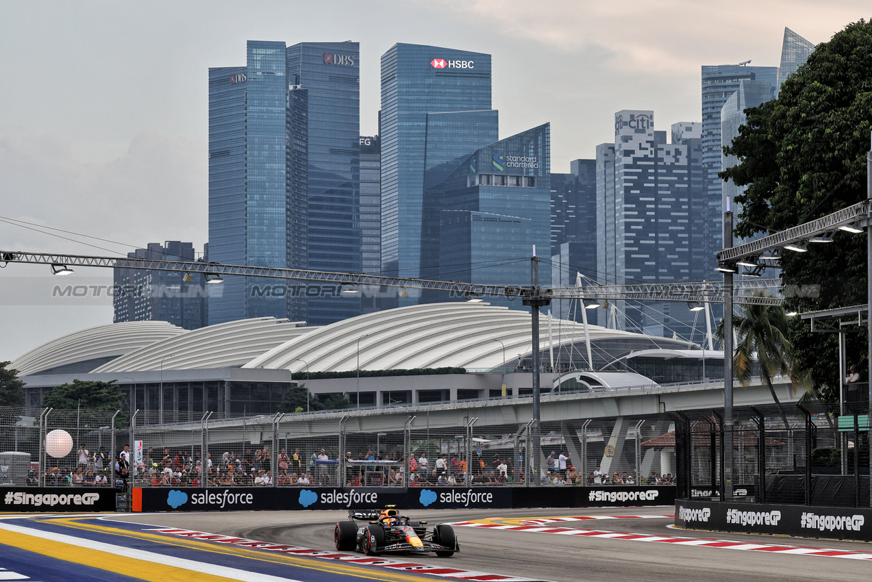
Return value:
M 671 516 L 673 509 L 670 506 L 559 511 L 419 511 L 411 517 L 425 518 L 430 525 L 489 521 L 481 524 L 486 527 L 455 526 L 460 552 L 453 558 L 416 555 L 405 559 L 419 564 L 554 582 L 612 579 L 698 582 L 735 580 L 737 577 L 844 582 L 865 578 L 870 572 L 872 545 L 867 543 L 677 530 L 670 527 L 671 517 L 655 517 Z M 535 521 L 536 518 L 558 516 L 601 518 L 553 522 L 548 523 L 548 527 Z M 649 517 L 602 518 L 618 516 Z M 333 526 L 337 519 L 346 517 L 339 511 L 289 511 L 150 514 L 122 519 L 332 552 L 335 550 Z M 495 529 L 497 525 L 526 527 L 533 531 Z M 568 529 L 584 535 L 570 535 Z M 613 538 L 591 531 L 638 535 Z M 659 538 L 662 539 L 657 541 Z M 698 545 L 705 540 L 733 541 L 740 545 Z M 841 555 L 822 555 L 825 552 L 794 548 L 835 550 Z M 813 553 L 802 555 L 798 552 Z

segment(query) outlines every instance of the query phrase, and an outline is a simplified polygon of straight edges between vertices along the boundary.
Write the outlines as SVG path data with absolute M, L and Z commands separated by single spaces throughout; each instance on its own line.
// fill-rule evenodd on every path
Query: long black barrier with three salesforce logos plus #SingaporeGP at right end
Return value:
M 133 511 L 509 509 L 671 505 L 675 487 L 183 487 L 133 489 Z

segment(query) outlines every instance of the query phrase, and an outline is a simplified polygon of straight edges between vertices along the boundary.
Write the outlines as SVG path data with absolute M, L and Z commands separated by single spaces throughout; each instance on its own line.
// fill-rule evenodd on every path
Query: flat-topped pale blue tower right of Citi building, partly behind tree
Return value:
M 750 62 L 750 61 L 748 61 Z M 745 79 L 766 81 L 771 87 L 770 97 L 775 97 L 778 87 L 778 67 L 751 67 L 746 64 L 717 64 L 702 67 L 702 155 L 705 166 L 705 247 L 700 255 L 705 261 L 705 270 L 712 272 L 715 254 L 723 247 L 723 180 L 721 171 L 720 110 L 726 100 L 739 88 Z

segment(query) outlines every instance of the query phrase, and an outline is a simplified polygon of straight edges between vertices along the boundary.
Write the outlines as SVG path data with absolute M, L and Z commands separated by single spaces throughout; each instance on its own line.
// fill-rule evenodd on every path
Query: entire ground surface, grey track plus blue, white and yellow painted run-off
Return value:
M 452 558 L 336 552 L 343 511 L 4 513 L 0 580 L 844 581 L 872 568 L 869 543 L 678 530 L 673 511 L 409 512 L 453 524 Z

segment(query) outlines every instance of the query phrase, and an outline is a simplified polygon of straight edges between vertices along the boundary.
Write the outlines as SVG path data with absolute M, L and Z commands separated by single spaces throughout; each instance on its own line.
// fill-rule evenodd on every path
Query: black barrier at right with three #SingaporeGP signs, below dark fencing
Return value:
M 872 541 L 872 510 L 861 507 L 679 499 L 675 504 L 675 524 L 689 530 Z

